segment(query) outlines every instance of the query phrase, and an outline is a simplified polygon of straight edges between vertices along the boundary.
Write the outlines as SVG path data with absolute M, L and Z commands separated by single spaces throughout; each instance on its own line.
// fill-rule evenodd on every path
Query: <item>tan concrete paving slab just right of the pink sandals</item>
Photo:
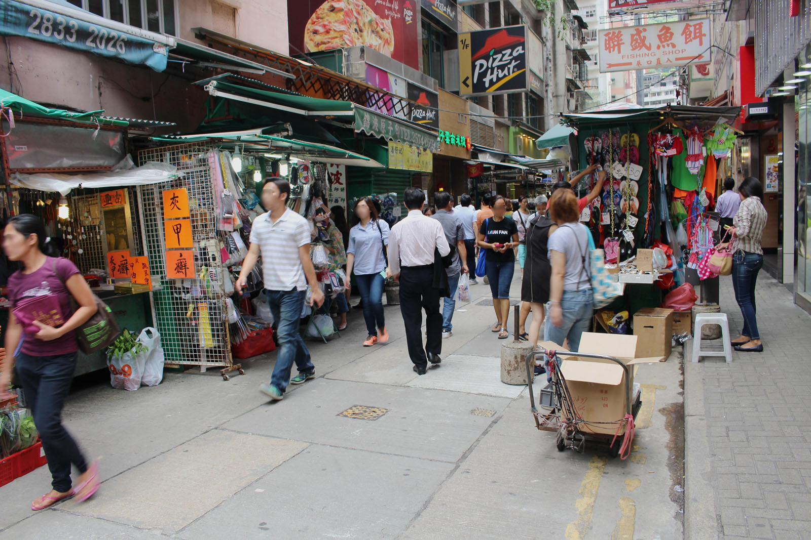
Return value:
M 60 509 L 171 534 L 306 447 L 214 430 L 109 479 L 84 504 Z

